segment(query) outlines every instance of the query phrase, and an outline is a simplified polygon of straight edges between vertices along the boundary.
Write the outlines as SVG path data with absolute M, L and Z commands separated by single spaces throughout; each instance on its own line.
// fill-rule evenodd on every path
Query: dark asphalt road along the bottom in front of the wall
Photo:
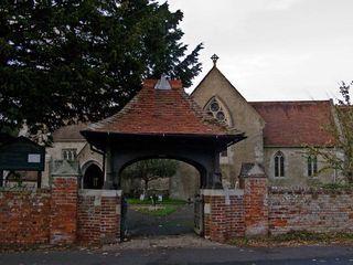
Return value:
M 231 265 L 231 264 L 350 264 L 353 246 L 300 247 L 150 247 L 148 250 L 36 251 L 0 254 L 1 265 Z

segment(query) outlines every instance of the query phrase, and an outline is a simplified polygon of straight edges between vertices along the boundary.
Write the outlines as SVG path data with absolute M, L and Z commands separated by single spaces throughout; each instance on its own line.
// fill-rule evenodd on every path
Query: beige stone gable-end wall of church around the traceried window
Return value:
M 231 165 L 233 167 L 227 169 L 223 163 L 223 171 L 227 173 L 223 178 L 227 179 L 233 186 L 236 177 L 239 176 L 243 162 L 263 162 L 264 121 L 217 68 L 213 68 L 208 73 L 191 96 L 202 108 L 211 98 L 216 97 L 228 110 L 231 127 L 244 131 L 247 136 L 247 139 L 231 147 Z

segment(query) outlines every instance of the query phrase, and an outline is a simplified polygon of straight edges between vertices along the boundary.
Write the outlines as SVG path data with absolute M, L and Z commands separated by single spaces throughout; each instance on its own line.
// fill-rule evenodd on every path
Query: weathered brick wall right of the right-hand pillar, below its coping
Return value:
M 353 190 L 268 191 L 269 233 L 289 231 L 353 233 Z

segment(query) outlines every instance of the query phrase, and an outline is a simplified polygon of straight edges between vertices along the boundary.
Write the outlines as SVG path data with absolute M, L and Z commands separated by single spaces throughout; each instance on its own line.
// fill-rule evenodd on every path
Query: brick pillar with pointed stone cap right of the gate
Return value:
M 240 172 L 240 188 L 244 189 L 245 235 L 268 234 L 267 177 L 258 163 L 244 163 Z

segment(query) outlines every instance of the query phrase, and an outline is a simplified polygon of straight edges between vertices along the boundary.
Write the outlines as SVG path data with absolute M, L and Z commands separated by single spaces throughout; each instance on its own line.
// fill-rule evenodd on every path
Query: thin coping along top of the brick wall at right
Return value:
M 272 194 L 353 194 L 353 188 L 324 189 L 304 187 L 268 187 L 268 193 Z

